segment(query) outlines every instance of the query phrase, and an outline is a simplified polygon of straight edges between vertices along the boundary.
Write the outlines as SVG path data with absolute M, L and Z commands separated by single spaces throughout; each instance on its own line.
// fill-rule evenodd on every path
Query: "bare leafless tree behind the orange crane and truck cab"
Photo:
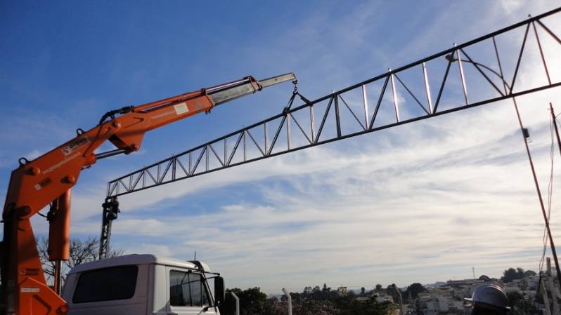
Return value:
M 37 250 L 39 251 L 39 258 L 43 265 L 43 271 L 47 282 L 53 281 L 55 275 L 55 262 L 49 261 L 49 239 L 46 237 L 39 237 L 36 240 Z M 89 236 L 86 239 L 71 239 L 70 240 L 70 255 L 68 260 L 63 261 L 61 267 L 62 283 L 66 280 L 66 275 L 70 269 L 76 267 L 84 262 L 93 262 L 98 258 L 99 240 L 96 237 Z M 110 250 L 108 257 L 116 257 L 122 255 L 124 250 L 117 248 Z

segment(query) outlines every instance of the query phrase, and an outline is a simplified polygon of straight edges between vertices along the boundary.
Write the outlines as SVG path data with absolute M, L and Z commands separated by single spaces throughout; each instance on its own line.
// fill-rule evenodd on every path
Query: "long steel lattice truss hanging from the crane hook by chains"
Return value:
M 561 45 L 560 36 L 547 26 L 560 20 L 560 11 L 454 45 L 314 101 L 296 93 L 304 105 L 286 107 L 281 114 L 112 180 L 107 196 L 560 86 L 561 78 L 555 81 L 548 67 L 559 51 L 547 49 Z M 503 43 L 517 49 L 501 51 Z M 538 68 L 542 81 L 521 78 L 524 69 Z

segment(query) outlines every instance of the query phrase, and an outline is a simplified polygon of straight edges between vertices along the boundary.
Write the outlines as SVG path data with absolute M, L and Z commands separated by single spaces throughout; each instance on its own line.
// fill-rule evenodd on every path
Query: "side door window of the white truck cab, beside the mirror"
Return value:
M 207 290 L 200 274 L 169 272 L 169 304 L 181 307 L 203 307 L 209 304 Z

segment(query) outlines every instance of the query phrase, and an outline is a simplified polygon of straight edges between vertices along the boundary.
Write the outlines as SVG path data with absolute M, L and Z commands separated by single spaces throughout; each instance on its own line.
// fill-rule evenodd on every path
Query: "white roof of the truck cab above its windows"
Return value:
M 75 274 L 77 272 L 84 272 L 91 269 L 101 269 L 114 266 L 123 266 L 126 264 L 163 264 L 166 266 L 187 268 L 187 269 L 198 269 L 198 267 L 193 262 L 188 262 L 185 260 L 177 260 L 174 258 L 160 257 L 152 254 L 131 254 L 123 255 L 118 257 L 105 258 L 103 260 L 96 260 L 94 262 L 84 262 L 84 264 L 79 264 L 70 270 L 69 274 Z M 204 262 L 200 263 L 205 272 L 210 272 L 207 264 Z

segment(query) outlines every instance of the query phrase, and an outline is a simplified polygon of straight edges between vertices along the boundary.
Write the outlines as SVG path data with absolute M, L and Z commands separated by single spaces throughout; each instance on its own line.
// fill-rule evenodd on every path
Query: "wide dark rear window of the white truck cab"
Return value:
M 138 266 L 95 269 L 79 275 L 73 303 L 126 300 L 134 296 Z

